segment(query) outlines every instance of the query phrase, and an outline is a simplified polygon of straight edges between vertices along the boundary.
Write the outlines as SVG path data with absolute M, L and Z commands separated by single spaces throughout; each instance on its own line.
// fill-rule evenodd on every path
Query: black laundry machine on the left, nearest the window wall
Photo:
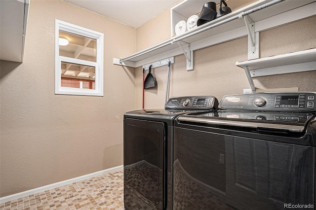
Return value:
M 172 209 L 174 120 L 217 106 L 213 96 L 179 97 L 170 98 L 165 109 L 124 114 L 125 209 Z

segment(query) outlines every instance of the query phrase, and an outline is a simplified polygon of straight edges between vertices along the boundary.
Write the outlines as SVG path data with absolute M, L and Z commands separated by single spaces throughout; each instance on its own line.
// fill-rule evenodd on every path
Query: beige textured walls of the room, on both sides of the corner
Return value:
M 142 106 L 142 70 L 112 65 L 170 37 L 169 10 L 136 30 L 60 0 L 31 0 L 24 63 L 0 62 L 0 197 L 121 165 L 123 113 Z M 166 16 L 168 16 L 166 18 Z M 104 97 L 54 95 L 55 18 L 105 35 Z M 316 17 L 260 33 L 260 56 L 316 47 Z M 137 40 L 136 40 L 137 37 Z M 236 61 L 247 60 L 247 38 L 194 52 L 171 67 L 170 97 L 242 93 L 249 83 Z M 163 108 L 167 67 L 153 70 L 158 87 L 145 108 Z M 265 76 L 258 88 L 316 91 L 316 71 Z

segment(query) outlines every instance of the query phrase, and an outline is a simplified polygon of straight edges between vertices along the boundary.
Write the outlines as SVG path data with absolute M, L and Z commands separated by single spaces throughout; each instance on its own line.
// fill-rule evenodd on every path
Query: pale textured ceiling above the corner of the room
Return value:
M 138 28 L 181 0 L 64 0 Z

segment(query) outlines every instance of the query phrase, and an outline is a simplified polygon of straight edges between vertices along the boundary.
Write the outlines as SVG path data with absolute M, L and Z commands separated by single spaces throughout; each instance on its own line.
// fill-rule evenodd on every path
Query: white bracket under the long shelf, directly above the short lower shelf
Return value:
M 259 32 L 255 33 L 255 23 L 248 15 L 243 16 L 243 20 L 248 31 L 248 60 L 257 59 L 259 58 Z

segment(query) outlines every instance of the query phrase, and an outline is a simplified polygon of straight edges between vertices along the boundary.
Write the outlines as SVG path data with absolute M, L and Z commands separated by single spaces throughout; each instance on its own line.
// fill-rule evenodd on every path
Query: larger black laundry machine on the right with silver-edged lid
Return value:
M 222 98 L 174 125 L 174 210 L 314 209 L 316 93 Z

